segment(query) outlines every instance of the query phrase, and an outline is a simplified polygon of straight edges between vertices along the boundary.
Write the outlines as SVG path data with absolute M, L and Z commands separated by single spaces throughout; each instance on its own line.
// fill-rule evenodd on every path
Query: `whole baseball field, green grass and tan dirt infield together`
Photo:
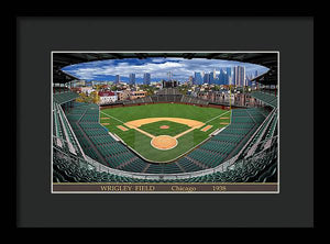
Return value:
M 177 103 L 102 109 L 100 123 L 151 162 L 174 160 L 230 123 L 230 111 Z

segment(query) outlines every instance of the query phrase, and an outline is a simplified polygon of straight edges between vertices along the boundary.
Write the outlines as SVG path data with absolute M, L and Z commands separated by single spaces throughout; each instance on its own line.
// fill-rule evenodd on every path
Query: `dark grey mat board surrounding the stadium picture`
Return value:
M 119 11 L 120 13 L 120 11 Z M 122 12 L 121 12 L 122 13 Z M 86 16 L 86 12 L 18 12 L 13 16 L 15 40 L 12 66 L 16 109 L 14 200 L 18 228 L 311 228 L 314 226 L 314 18 L 310 12 L 251 16 L 230 13 L 217 16 Z M 194 13 L 194 12 L 193 12 Z M 195 12 L 196 13 L 196 12 Z M 105 13 L 103 13 L 105 14 Z M 175 16 L 176 15 L 176 16 Z M 235 15 L 235 14 L 233 14 Z M 249 16 L 246 16 L 249 15 Z M 280 16 L 282 15 L 282 16 Z M 94 20 L 94 21 L 89 21 Z M 112 25 L 108 29 L 107 23 Z M 116 22 L 113 24 L 113 22 Z M 121 24 L 122 25 L 121 25 Z M 136 24 L 140 29 L 136 29 Z M 143 26 L 143 27 L 142 27 Z M 186 29 L 183 31 L 183 26 Z M 227 29 L 226 29 L 227 26 Z M 229 31 L 229 26 L 231 27 Z M 248 30 L 258 30 L 249 35 Z M 264 26 L 263 29 L 261 26 Z M 215 31 L 213 40 L 197 36 L 194 30 Z M 105 31 L 107 30 L 107 31 Z M 113 37 L 112 30 L 117 35 Z M 155 35 L 170 30 L 172 35 L 144 36 L 138 42 L 130 33 L 144 30 Z M 157 31 L 158 30 L 158 31 Z M 222 38 L 219 30 L 227 31 Z M 89 35 L 85 33 L 89 32 Z M 294 32 L 294 33 L 293 33 Z M 141 32 L 140 32 L 141 33 Z M 201 32 L 202 33 L 202 32 Z M 237 38 L 241 34 L 244 41 Z M 108 36 L 110 35 L 110 36 Z M 96 38 L 95 36 L 98 36 Z M 106 37 L 107 36 L 107 37 Z M 289 36 L 289 37 L 288 37 Z M 148 38 L 147 38 L 148 37 Z M 165 45 L 164 45 L 165 44 Z M 50 119 L 43 104 L 50 98 L 50 51 L 52 49 L 270 49 L 280 52 L 282 100 L 282 191 L 279 195 L 51 195 L 48 136 Z M 297 58 L 304 52 L 305 58 Z M 298 74 L 304 70 L 304 75 Z M 294 81 L 293 81 L 294 80 Z M 299 80 L 297 82 L 296 80 Z M 299 92 L 297 91 L 299 88 Z M 302 96 L 304 95 L 304 96 Z M 304 109 L 295 101 L 304 99 Z M 293 104 L 294 103 L 294 104 Z M 295 107 L 292 110 L 290 106 Z M 302 119 L 304 118 L 304 119 Z M 298 120 L 302 123 L 296 123 Z M 304 132 L 305 141 L 299 140 Z M 282 136 L 280 135 L 280 136 Z M 287 147 L 290 147 L 288 149 Z M 296 154 L 304 152 L 304 155 Z M 297 174 L 297 165 L 299 170 Z M 150 204 L 150 203 L 153 204 Z M 133 204 L 133 206 L 132 206 Z M 180 206 L 177 208 L 176 206 Z M 147 208 L 146 208 L 147 207 Z M 102 214 L 95 214 L 100 209 Z M 145 210 L 147 211 L 140 211 Z M 244 211 L 249 209 L 249 211 Z M 158 211 L 162 210 L 162 211 Z M 226 210 L 226 211 L 221 211 Z M 157 214 L 154 214 L 158 211 Z M 79 221 L 84 213 L 84 219 Z M 92 224 L 90 224 L 92 223 Z

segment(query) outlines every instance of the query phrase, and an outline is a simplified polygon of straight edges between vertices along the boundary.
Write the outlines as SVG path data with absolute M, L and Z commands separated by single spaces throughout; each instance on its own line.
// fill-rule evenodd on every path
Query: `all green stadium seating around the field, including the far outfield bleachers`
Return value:
M 277 182 L 277 97 L 251 96 L 262 106 L 233 109 L 231 123 L 187 154 L 168 164 L 141 157 L 100 124 L 100 108 L 76 102 L 70 89 L 53 92 L 54 182 Z M 120 106 L 209 101 L 162 89 Z

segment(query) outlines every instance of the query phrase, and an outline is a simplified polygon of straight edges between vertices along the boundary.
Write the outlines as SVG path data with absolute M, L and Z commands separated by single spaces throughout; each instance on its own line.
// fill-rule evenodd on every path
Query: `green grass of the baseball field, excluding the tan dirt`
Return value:
M 102 118 L 108 117 L 110 119 L 102 120 Z M 122 107 L 114 109 L 101 110 L 100 118 L 101 122 L 110 123 L 105 125 L 110 132 L 120 136 L 130 147 L 135 149 L 140 155 L 148 160 L 153 162 L 168 162 L 172 160 L 187 151 L 195 147 L 197 144 L 202 142 L 208 137 L 210 133 L 215 130 L 226 126 L 222 123 L 229 123 L 229 119 L 221 119 L 221 117 L 230 118 L 230 112 L 227 110 L 216 109 L 216 108 L 202 108 L 197 106 L 186 106 L 176 103 L 156 103 L 146 106 L 135 106 L 135 107 Z M 122 131 L 117 127 L 117 125 L 123 125 L 123 123 L 145 119 L 145 118 L 183 118 L 191 119 L 206 123 L 206 125 L 212 125 L 207 132 L 196 129 L 190 133 L 187 133 L 177 138 L 178 145 L 168 151 L 160 151 L 151 145 L 151 138 L 133 129 L 129 131 Z M 161 125 L 168 125 L 169 129 L 162 130 Z M 205 125 L 205 126 L 206 126 Z M 204 126 L 202 126 L 204 127 Z M 174 136 L 189 129 L 189 126 L 180 123 L 175 123 L 170 121 L 158 121 L 150 124 L 144 124 L 140 126 L 155 136 L 157 135 L 170 135 Z

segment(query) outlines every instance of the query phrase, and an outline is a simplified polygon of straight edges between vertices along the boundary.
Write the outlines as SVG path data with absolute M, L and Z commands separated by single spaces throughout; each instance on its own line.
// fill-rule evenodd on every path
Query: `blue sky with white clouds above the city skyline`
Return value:
M 89 63 L 80 63 L 64 67 L 62 70 L 68 73 L 79 79 L 85 80 L 108 80 L 113 81 L 116 75 L 120 75 L 122 81 L 128 81 L 130 74 L 135 74 L 136 82 L 142 82 L 144 73 L 151 74 L 152 81 L 168 79 L 168 73 L 173 74 L 173 79 L 179 81 L 188 80 L 189 76 L 194 76 L 195 71 L 210 73 L 216 69 L 218 75 L 220 68 L 245 66 L 246 75 L 255 73 L 263 74 L 268 69 L 264 66 L 232 62 L 221 59 L 206 58 L 125 58 L 109 59 Z

